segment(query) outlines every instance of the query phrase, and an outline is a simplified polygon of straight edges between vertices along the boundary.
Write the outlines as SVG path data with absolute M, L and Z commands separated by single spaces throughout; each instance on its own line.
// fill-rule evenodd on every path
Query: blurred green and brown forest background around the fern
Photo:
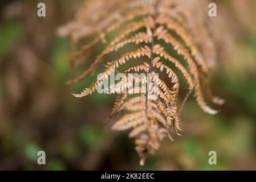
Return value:
M 37 16 L 39 2 L 46 3 L 44 18 Z M 115 96 L 71 95 L 95 77 L 64 84 L 76 71 L 68 63 L 70 41 L 56 30 L 74 18 L 82 1 L 1 0 L 0 169 L 255 170 L 256 1 L 213 2 L 216 19 L 225 19 L 226 33 L 218 39 L 229 51 L 218 60 L 211 84 L 226 102 L 209 115 L 190 98 L 181 115 L 182 137 L 166 138 L 140 167 L 127 132 L 112 131 L 112 120 L 103 125 Z M 36 162 L 39 150 L 46 152 L 46 165 Z M 208 164 L 212 150 L 217 165 Z

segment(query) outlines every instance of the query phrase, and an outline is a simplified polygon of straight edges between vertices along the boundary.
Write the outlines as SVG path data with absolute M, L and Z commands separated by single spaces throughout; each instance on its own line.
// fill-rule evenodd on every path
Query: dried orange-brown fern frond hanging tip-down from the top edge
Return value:
M 117 113 L 124 113 L 112 129 L 131 129 L 129 137 L 135 137 L 136 151 L 141 159 L 141 165 L 144 164 L 148 154 L 153 154 L 159 149 L 164 137 L 169 136 L 172 139 L 168 131 L 170 127 L 180 135 L 179 113 L 192 92 L 198 105 L 206 113 L 216 114 L 217 110 L 209 107 L 205 98 L 215 104 L 223 103 L 218 97 L 214 97 L 209 89 L 208 72 L 214 66 L 216 48 L 205 24 L 207 14 L 201 10 L 205 2 L 198 0 L 85 1 L 75 20 L 59 29 L 60 35 L 69 36 L 72 40 L 74 50 L 70 62 L 74 67 L 88 60 L 97 44 L 105 45 L 90 67 L 82 75 L 68 81 L 68 84 L 92 75 L 112 52 L 120 51 L 130 44 L 137 46 L 137 49 L 108 61 L 105 64 L 104 75 L 89 88 L 74 96 L 84 97 L 92 94 L 104 80 L 108 79 L 112 69 L 123 67 L 128 61 L 133 61 L 136 65 L 124 71 L 125 74 L 152 73 L 151 79 L 157 82 L 157 87 L 153 88 L 158 95 L 155 100 L 149 99 L 147 87 L 140 86 L 138 89 L 140 94 L 120 93 L 109 115 L 111 118 Z M 87 42 L 85 45 L 82 44 L 84 41 Z M 141 62 L 142 57 L 144 63 Z M 185 64 L 180 59 L 185 60 Z M 166 73 L 169 81 L 164 82 L 154 76 L 155 73 L 160 72 Z M 180 81 L 177 72 L 180 72 L 188 83 L 188 93 L 180 103 L 178 102 Z M 139 82 L 143 82 L 143 79 Z M 111 88 L 121 90 L 128 88 L 129 85 L 131 82 L 121 80 L 110 85 L 105 93 L 112 93 Z

